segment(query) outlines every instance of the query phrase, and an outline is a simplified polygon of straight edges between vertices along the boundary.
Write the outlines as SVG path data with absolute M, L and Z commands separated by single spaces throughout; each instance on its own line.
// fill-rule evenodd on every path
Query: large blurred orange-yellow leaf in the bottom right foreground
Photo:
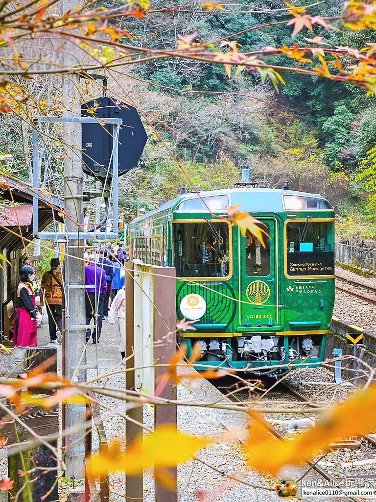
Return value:
M 281 442 L 255 423 L 247 444 L 251 467 L 278 472 L 287 465 L 299 465 L 320 450 L 327 451 L 338 439 L 367 434 L 376 428 L 376 386 L 355 393 L 350 399 L 325 412 L 319 422 L 293 441 Z M 257 416 L 255 416 L 257 421 Z M 272 452 L 266 455 L 265 452 Z

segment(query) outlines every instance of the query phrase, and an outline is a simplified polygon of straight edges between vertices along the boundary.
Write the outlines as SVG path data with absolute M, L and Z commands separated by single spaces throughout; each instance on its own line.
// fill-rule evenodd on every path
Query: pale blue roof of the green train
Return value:
M 241 204 L 240 210 L 247 211 L 250 213 L 258 212 L 270 212 L 270 213 L 280 213 L 286 212 L 282 204 L 282 195 L 296 195 L 300 197 L 314 197 L 318 199 L 327 200 L 325 197 L 318 193 L 308 193 L 308 192 L 298 192 L 295 190 L 286 190 L 279 188 L 254 188 L 254 187 L 242 187 L 242 188 L 224 188 L 221 190 L 209 190 L 206 192 L 199 192 L 201 197 L 211 197 L 218 195 L 229 195 L 229 204 L 237 205 Z M 156 213 L 161 213 L 167 209 L 172 208 L 172 210 L 183 200 L 196 199 L 198 198 L 196 192 L 188 192 L 164 202 L 159 205 L 158 209 L 149 211 L 142 216 L 138 216 L 131 223 L 141 221 L 149 216 L 153 216 Z M 227 204 L 226 204 L 227 205 Z M 331 206 L 330 206 L 331 207 Z M 195 211 L 192 211 L 195 212 Z M 202 211 L 201 211 L 202 212 Z M 223 213 L 224 209 L 221 211 L 214 211 Z M 291 210 L 287 210 L 291 212 Z

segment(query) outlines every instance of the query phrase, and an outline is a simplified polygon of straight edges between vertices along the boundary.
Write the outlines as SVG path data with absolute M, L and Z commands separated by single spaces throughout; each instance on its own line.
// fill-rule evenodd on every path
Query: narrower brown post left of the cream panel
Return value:
M 124 263 L 125 278 L 125 357 L 132 355 L 134 347 L 134 287 L 133 287 L 133 263 Z M 126 360 L 125 388 L 134 390 L 134 357 Z M 130 371 L 129 371 L 130 369 Z M 142 407 L 128 411 L 128 416 L 142 424 Z M 134 441 L 135 437 L 142 434 L 142 429 L 136 424 L 126 421 L 125 424 L 125 449 Z M 125 473 L 125 497 L 126 500 L 143 499 L 143 476 L 128 476 Z

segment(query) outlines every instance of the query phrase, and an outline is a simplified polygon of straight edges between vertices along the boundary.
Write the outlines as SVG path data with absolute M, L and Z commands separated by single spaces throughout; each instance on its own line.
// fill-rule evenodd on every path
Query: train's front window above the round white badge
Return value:
M 177 277 L 227 277 L 230 275 L 229 225 L 206 222 L 174 223 L 174 256 Z

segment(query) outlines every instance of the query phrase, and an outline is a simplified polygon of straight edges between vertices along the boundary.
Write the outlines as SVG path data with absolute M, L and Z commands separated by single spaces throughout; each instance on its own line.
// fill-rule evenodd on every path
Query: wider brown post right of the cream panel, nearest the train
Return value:
M 168 276 L 168 277 L 163 277 Z M 163 339 L 164 343 L 154 347 L 154 360 L 167 364 L 176 353 L 176 335 L 167 336 L 168 331 L 174 331 L 176 325 L 176 287 L 175 269 L 170 267 L 154 267 L 153 276 L 154 302 L 154 342 Z M 167 327 L 166 327 L 167 324 Z M 166 372 L 166 367 L 154 367 L 154 382 L 158 385 Z M 161 398 L 176 400 L 176 386 L 168 382 L 159 394 Z M 154 427 L 161 424 L 171 424 L 176 427 L 176 406 L 155 405 Z M 168 448 L 168 445 L 166 445 Z M 171 467 L 168 472 L 175 480 L 175 488 L 169 490 L 154 479 L 155 502 L 176 502 L 177 500 L 177 467 Z

